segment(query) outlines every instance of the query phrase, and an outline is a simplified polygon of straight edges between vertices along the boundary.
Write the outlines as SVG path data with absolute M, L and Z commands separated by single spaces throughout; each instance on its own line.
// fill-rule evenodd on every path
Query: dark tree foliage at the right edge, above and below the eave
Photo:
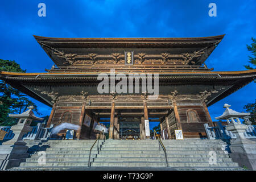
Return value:
M 253 53 L 253 57 L 249 56 L 249 63 L 253 64 L 253 66 L 256 66 L 256 39 L 251 38 L 251 40 L 253 40 L 253 43 L 251 43 L 251 45 L 246 45 L 248 51 L 250 51 L 251 53 Z M 245 65 L 246 69 L 255 69 L 256 67 L 251 67 L 251 65 Z M 254 82 L 256 82 L 254 80 Z M 253 125 L 256 124 L 255 120 L 256 120 L 256 100 L 254 102 L 254 104 L 247 104 L 243 107 L 243 109 L 246 109 L 247 112 L 251 113 L 251 118 L 250 121 L 253 122 Z

